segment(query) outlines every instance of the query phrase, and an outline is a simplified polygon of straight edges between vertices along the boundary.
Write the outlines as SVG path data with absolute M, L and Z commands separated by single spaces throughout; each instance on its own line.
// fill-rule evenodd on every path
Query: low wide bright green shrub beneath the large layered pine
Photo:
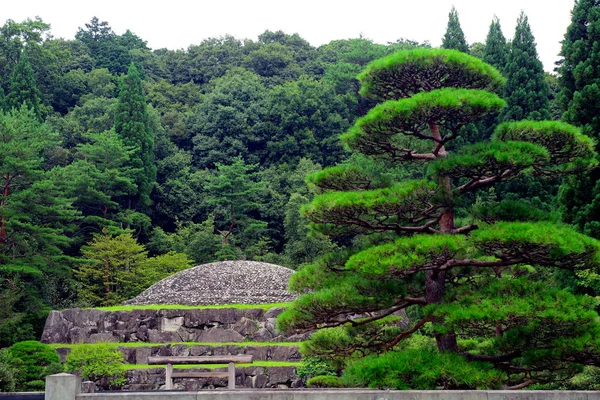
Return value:
M 502 376 L 489 363 L 470 362 L 454 353 L 405 350 L 351 363 L 342 380 L 350 387 L 380 389 L 496 389 Z

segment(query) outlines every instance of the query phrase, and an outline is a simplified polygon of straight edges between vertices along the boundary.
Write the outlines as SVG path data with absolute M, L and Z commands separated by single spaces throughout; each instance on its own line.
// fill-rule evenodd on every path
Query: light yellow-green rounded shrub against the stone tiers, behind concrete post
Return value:
M 125 384 L 123 354 L 108 343 L 74 347 L 67 356 L 65 369 L 96 382 L 103 389 L 115 389 Z

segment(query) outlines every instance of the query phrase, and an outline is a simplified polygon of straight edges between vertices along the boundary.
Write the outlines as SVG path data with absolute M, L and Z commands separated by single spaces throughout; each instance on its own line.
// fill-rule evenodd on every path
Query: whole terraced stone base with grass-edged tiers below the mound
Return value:
M 54 345 L 63 361 L 71 350 L 69 345 L 117 344 L 124 362 L 131 367 L 124 387 L 128 390 L 160 389 L 164 385 L 165 369 L 149 368 L 150 356 L 239 354 L 252 355 L 255 364 L 236 367 L 237 387 L 300 387 L 302 381 L 296 376 L 295 363 L 300 361 L 299 342 L 305 336 L 277 332 L 275 319 L 283 309 L 203 307 L 52 311 L 46 320 L 42 342 Z M 207 368 L 191 369 L 205 370 Z M 181 379 L 175 386 L 185 390 L 226 387 L 227 380 Z

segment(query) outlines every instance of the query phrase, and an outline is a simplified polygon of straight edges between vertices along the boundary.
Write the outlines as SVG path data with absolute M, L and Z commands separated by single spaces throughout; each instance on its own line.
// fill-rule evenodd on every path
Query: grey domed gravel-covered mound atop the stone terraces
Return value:
M 178 272 L 155 283 L 127 305 L 261 304 L 295 299 L 287 291 L 294 270 L 256 261 L 222 261 Z

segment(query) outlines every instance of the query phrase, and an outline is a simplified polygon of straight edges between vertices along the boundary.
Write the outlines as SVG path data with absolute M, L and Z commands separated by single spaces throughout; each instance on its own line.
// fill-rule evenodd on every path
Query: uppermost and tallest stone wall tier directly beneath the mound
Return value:
M 109 342 L 295 342 L 305 335 L 277 332 L 281 307 L 104 311 L 73 308 L 52 311 L 44 343 Z

